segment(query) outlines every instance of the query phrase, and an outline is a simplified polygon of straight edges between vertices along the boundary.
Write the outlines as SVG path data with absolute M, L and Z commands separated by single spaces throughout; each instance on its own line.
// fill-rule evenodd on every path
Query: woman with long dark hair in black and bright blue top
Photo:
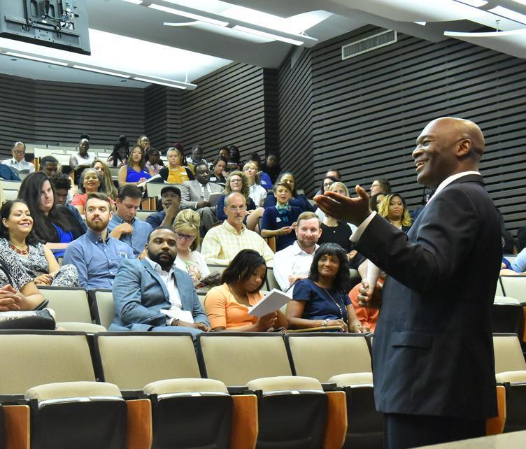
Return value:
M 76 215 L 69 208 L 55 204 L 55 191 L 43 171 L 30 173 L 22 181 L 18 195 L 29 207 L 36 238 L 45 243 L 55 257 L 64 255 L 69 243 L 84 234 Z

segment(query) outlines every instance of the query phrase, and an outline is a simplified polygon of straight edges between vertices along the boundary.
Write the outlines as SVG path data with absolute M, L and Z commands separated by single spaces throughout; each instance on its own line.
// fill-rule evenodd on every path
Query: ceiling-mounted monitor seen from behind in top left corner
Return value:
M 86 0 L 0 0 L 0 37 L 91 55 Z

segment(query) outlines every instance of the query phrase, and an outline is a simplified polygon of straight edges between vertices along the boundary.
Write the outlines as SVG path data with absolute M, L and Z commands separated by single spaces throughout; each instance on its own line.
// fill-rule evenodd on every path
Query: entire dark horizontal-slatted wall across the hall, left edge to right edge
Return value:
M 337 166 L 349 186 L 390 179 L 414 207 L 422 197 L 411 161 L 415 138 L 429 120 L 454 115 L 481 125 L 481 171 L 515 234 L 526 225 L 525 61 L 404 34 L 341 60 L 341 45 L 377 31 L 364 27 L 312 49 L 294 48 L 279 69 L 229 64 L 189 92 L 0 76 L 0 151 L 7 155 L 16 139 L 76 142 L 85 131 L 96 144 L 110 145 L 119 134 L 134 141 L 143 131 L 158 148 L 200 143 L 208 159 L 219 145 L 236 143 L 245 156 L 279 150 L 282 166 L 307 194 Z

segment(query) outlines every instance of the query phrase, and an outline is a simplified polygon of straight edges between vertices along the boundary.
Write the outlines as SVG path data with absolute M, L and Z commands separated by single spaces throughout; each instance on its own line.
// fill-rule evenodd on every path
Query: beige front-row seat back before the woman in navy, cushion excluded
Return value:
M 372 372 L 369 345 L 362 335 L 288 334 L 285 342 L 297 376 L 327 382 L 338 374 Z

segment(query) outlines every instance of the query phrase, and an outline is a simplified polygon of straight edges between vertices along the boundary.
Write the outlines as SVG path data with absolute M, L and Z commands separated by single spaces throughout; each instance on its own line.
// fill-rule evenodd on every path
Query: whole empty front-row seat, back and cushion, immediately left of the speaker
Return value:
M 383 417 L 376 411 L 371 354 L 362 334 L 288 334 L 285 342 L 294 373 L 346 392 L 347 434 L 344 448 L 381 448 Z

